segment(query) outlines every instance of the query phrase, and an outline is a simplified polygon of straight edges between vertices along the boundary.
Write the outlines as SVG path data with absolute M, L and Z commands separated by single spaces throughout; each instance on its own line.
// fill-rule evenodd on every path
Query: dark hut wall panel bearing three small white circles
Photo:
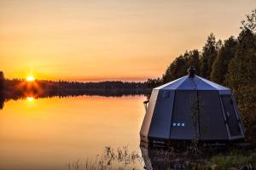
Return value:
M 177 90 L 175 92 L 171 139 L 196 138 L 198 129 L 191 115 L 191 103 L 195 102 L 195 96 L 195 90 Z

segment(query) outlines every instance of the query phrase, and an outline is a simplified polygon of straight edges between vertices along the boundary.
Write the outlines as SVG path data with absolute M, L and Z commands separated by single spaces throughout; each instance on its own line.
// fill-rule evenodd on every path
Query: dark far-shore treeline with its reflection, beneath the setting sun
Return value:
M 46 80 L 26 82 L 22 79 L 5 79 L 3 71 L 0 73 L 1 91 L 5 99 L 20 99 L 28 96 L 44 98 L 77 95 L 123 96 L 150 93 L 147 82 L 55 82 Z

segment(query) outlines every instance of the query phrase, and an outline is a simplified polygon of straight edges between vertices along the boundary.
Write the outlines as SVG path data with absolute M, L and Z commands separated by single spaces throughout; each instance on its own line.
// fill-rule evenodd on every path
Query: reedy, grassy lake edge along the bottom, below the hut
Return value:
M 68 170 L 109 169 L 205 169 L 205 170 L 252 170 L 256 167 L 255 148 L 227 147 L 201 148 L 197 154 L 189 147 L 186 150 L 148 150 L 141 153 L 129 150 L 128 146 L 105 147 L 95 158 L 85 158 L 67 163 Z

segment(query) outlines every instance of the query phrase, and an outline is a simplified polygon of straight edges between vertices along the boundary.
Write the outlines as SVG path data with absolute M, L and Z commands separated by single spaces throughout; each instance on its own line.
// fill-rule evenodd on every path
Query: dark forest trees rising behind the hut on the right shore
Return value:
M 201 51 L 194 49 L 181 54 L 168 65 L 162 77 L 148 79 L 148 85 L 154 88 L 183 77 L 191 65 L 197 75 L 232 89 L 248 137 L 256 141 L 256 9 L 241 21 L 238 37 L 216 41 L 211 33 Z

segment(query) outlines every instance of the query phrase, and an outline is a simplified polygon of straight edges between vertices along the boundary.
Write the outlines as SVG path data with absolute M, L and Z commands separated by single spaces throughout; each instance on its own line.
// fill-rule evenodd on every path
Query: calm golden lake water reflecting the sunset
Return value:
M 68 169 L 68 163 L 94 158 L 105 146 L 128 144 L 140 152 L 145 99 L 11 100 L 0 110 L 0 169 Z

